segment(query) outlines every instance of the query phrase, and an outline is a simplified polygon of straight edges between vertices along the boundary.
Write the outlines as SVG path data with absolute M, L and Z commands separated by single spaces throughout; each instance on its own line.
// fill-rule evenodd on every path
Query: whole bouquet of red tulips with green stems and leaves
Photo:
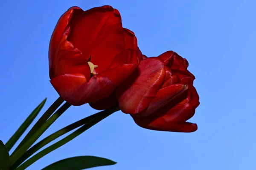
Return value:
M 195 114 L 199 97 L 188 61 L 176 52 L 157 57 L 143 55 L 137 38 L 122 27 L 121 15 L 111 6 L 83 11 L 71 7 L 52 33 L 49 43 L 49 78 L 59 98 L 9 153 L 32 123 L 46 99 L 36 107 L 15 134 L 0 141 L 0 170 L 25 170 L 35 161 L 121 110 L 140 127 L 170 132 L 194 132 L 187 120 Z M 41 141 L 38 138 L 71 106 L 90 104 L 102 110 L 63 127 Z M 76 129 L 76 130 L 75 130 Z M 36 153 L 60 136 L 70 135 Z M 82 170 L 116 162 L 96 156 L 57 161 L 43 170 Z

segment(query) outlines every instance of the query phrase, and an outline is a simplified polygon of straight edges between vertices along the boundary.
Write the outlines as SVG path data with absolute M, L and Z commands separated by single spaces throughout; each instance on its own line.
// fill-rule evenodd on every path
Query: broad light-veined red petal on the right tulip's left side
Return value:
M 146 109 L 164 81 L 164 63 L 159 58 L 147 58 L 136 71 L 119 85 L 116 97 L 124 113 L 135 114 Z

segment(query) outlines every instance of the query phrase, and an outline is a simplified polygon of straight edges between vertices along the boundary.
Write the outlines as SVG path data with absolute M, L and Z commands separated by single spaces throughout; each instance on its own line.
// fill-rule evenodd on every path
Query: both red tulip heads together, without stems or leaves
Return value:
M 52 86 L 72 105 L 119 106 L 151 130 L 194 132 L 186 122 L 199 97 L 188 62 L 168 51 L 146 57 L 111 6 L 72 7 L 59 19 L 49 45 Z

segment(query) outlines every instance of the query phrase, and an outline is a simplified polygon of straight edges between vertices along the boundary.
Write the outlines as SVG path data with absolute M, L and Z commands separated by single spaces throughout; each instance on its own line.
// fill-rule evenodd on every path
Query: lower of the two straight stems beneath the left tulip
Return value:
M 20 147 L 15 154 L 10 157 L 10 165 L 14 164 L 28 149 L 35 143 L 35 141 L 49 128 L 49 126 L 59 118 L 71 105 L 69 103 L 63 104 L 32 136 L 26 143 Z

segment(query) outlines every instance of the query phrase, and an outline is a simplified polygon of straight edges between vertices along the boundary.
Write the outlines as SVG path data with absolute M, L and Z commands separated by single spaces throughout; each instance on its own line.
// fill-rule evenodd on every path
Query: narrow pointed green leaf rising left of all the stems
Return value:
M 10 151 L 13 147 L 13 145 L 17 142 L 17 140 L 20 138 L 20 136 L 25 132 L 25 130 L 29 127 L 29 125 L 32 123 L 32 121 L 35 119 L 35 117 L 38 115 L 38 113 L 41 111 L 41 109 L 44 107 L 44 104 L 46 102 L 46 98 L 44 101 L 41 102 L 41 104 L 36 107 L 33 112 L 29 115 L 29 117 L 26 118 L 26 120 L 21 124 L 19 129 L 15 132 L 14 135 L 7 141 L 6 148 L 8 151 Z

